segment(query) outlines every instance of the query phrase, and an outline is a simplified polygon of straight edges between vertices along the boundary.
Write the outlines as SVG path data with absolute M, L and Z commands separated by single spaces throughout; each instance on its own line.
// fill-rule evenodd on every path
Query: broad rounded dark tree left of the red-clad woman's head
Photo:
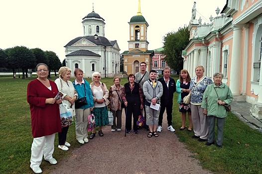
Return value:
M 16 68 L 22 69 L 22 79 L 25 79 L 25 73 L 27 77 L 27 69 L 32 69 L 35 67 L 36 60 L 33 52 L 26 48 L 25 46 L 15 46 L 13 48 L 8 49 L 8 57 L 11 64 L 10 68 L 14 68 L 13 72 Z

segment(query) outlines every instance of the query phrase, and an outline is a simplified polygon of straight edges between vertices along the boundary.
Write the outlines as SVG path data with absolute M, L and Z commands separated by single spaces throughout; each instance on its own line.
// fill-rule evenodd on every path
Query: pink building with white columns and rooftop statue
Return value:
M 250 113 L 262 118 L 262 1 L 227 0 L 221 12 L 215 10 L 216 17 L 210 16 L 210 23 L 196 19 L 193 9 L 190 41 L 182 51 L 184 69 L 191 77 L 198 65 L 211 78 L 223 73 L 234 100 L 253 104 Z

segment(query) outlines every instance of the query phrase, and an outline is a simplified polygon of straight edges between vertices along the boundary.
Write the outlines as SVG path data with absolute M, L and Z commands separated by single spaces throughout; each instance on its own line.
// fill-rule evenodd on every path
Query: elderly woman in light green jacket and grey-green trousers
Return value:
M 208 142 L 207 146 L 215 143 L 215 121 L 217 119 L 217 147 L 222 148 L 223 129 L 227 111 L 225 106 L 229 106 L 233 100 L 232 92 L 226 84 L 222 83 L 224 75 L 215 73 L 213 75 L 214 84 L 208 85 L 204 94 L 201 107 L 208 120 Z

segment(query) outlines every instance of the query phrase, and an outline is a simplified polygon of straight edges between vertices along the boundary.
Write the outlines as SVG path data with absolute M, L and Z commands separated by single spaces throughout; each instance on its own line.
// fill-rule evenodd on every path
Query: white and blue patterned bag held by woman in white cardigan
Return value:
M 66 103 L 61 103 L 59 104 L 59 111 L 62 128 L 72 125 L 71 108 L 68 108 Z

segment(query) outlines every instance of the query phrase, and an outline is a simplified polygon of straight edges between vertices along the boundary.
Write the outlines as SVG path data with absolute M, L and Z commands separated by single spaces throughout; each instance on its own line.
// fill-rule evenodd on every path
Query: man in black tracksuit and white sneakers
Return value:
M 162 131 L 163 114 L 166 109 L 167 114 L 167 130 L 175 132 L 172 126 L 172 107 L 173 107 L 173 96 L 176 91 L 175 80 L 170 78 L 170 68 L 164 68 L 164 76 L 157 81 L 161 82 L 163 86 L 163 95 L 161 96 L 161 108 L 159 113 L 158 128 L 157 132 Z

